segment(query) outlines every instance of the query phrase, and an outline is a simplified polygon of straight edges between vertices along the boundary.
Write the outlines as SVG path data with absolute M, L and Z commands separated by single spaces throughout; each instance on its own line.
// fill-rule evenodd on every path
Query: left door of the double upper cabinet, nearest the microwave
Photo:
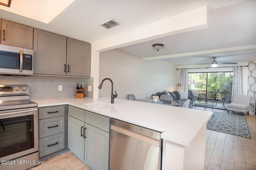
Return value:
M 66 75 L 67 38 L 34 29 L 34 74 Z

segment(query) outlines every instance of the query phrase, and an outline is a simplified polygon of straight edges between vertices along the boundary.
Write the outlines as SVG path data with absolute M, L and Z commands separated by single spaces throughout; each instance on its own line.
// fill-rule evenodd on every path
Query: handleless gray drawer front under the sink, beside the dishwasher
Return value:
M 110 118 L 90 111 L 85 111 L 85 122 L 106 132 L 110 130 Z

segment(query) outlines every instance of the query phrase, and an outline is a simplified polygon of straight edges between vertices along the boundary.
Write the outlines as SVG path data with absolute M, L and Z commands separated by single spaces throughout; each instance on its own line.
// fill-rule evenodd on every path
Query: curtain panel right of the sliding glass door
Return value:
M 233 68 L 233 88 L 232 95 L 243 95 L 243 66 L 234 66 Z

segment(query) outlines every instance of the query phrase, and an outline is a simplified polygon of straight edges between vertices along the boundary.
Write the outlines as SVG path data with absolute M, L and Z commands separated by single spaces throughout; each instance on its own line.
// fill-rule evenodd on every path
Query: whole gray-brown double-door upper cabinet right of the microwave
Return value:
M 34 74 L 90 77 L 91 44 L 34 29 Z

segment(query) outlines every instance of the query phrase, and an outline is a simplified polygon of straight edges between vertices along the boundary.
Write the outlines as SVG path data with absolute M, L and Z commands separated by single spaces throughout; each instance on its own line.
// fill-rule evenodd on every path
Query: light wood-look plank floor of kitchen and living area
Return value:
M 197 109 L 200 109 L 200 107 Z M 203 108 L 201 108 L 203 109 Z M 206 110 L 211 110 L 206 108 Z M 226 110 L 214 111 L 227 113 Z M 246 115 L 252 139 L 206 130 L 204 170 L 256 170 L 256 115 Z M 71 152 L 30 170 L 90 170 Z

